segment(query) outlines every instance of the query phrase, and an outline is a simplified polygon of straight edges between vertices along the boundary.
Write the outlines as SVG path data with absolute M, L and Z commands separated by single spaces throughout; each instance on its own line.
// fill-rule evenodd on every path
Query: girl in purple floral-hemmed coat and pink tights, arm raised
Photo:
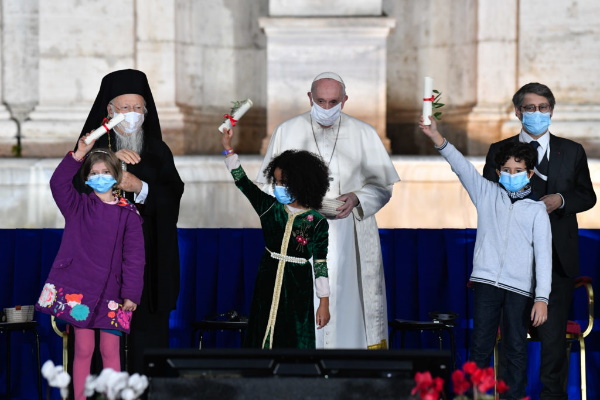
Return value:
M 121 370 L 119 339 L 122 332 L 129 333 L 132 312 L 140 302 L 145 264 L 142 218 L 133 204 L 112 191 L 123 175 L 121 163 L 108 149 L 88 155 L 94 141 L 87 145 L 86 137 L 79 140 L 76 152 L 65 156 L 50 179 L 65 229 L 36 304 L 38 311 L 74 327 L 75 399 L 85 399 L 94 329 L 101 330 L 104 368 Z M 80 194 L 73 187 L 73 176 L 80 167 L 93 193 Z

